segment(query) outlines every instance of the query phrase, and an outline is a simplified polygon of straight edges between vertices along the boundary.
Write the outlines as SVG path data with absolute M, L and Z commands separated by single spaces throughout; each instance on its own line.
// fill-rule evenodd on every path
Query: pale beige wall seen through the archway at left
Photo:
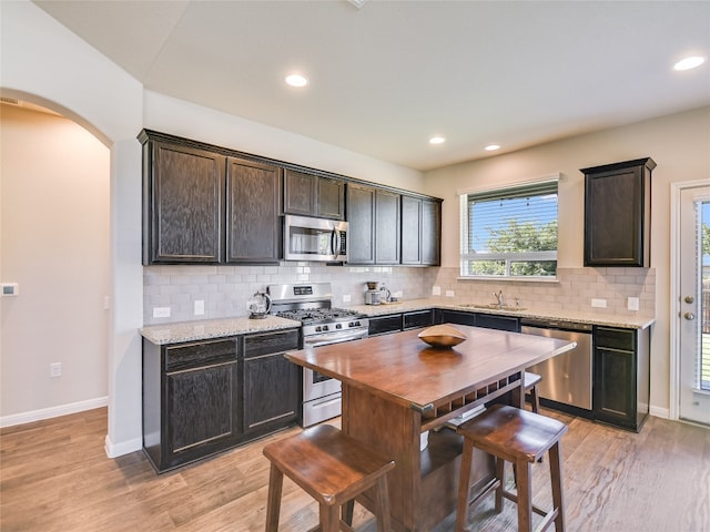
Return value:
M 14 424 L 106 403 L 109 149 L 68 119 L 10 105 L 0 127 L 0 275 L 20 286 L 0 299 L 0 421 Z

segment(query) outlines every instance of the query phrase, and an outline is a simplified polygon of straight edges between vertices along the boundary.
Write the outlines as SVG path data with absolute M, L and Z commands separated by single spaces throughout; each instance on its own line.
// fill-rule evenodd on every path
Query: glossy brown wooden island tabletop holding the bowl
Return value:
M 436 407 L 515 378 L 514 374 L 575 347 L 541 336 L 454 327 L 468 339 L 449 349 L 429 347 L 418 337 L 422 329 L 413 329 L 292 351 L 286 358 L 427 416 Z

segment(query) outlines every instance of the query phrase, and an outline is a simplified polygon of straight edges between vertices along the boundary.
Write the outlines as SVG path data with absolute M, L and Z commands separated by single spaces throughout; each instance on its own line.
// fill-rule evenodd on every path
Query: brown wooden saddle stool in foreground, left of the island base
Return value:
M 264 456 L 271 461 L 266 532 L 278 530 L 284 474 L 318 502 L 321 525 L 314 530 L 352 531 L 354 499 L 374 487 L 377 530 L 389 532 L 387 472 L 395 467 L 393 460 L 329 424 L 270 443 L 264 447 Z

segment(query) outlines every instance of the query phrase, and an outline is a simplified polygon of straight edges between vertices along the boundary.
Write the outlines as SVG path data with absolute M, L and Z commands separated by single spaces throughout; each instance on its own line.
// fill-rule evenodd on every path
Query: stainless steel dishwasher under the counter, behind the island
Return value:
M 577 347 L 528 368 L 542 376 L 542 399 L 569 405 L 591 413 L 591 325 L 550 319 L 520 319 L 520 332 L 576 341 Z M 545 401 L 542 401 L 545 403 Z

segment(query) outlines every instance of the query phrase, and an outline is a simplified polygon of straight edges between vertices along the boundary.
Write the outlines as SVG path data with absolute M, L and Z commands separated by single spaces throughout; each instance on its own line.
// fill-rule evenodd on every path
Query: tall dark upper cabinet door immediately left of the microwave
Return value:
M 226 262 L 277 263 L 282 170 L 230 157 L 226 171 Z

